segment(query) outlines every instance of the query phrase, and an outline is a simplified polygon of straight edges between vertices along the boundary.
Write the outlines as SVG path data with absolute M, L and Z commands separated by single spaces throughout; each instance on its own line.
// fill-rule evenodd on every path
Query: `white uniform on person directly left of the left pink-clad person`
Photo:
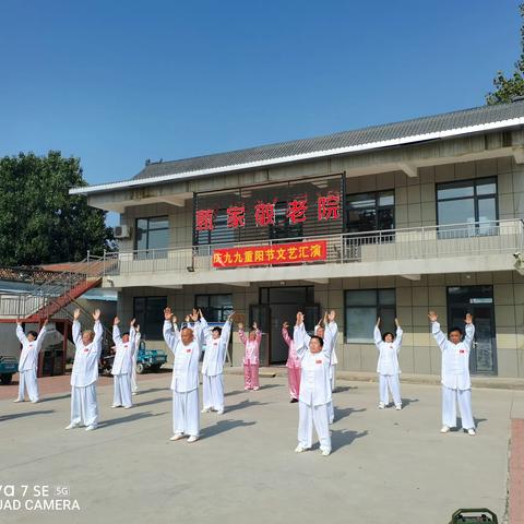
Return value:
M 200 319 L 204 333 L 205 353 L 202 362 L 203 409 L 224 412 L 224 362 L 231 333 L 231 322 L 226 321 L 221 336 L 213 338 L 204 318 Z

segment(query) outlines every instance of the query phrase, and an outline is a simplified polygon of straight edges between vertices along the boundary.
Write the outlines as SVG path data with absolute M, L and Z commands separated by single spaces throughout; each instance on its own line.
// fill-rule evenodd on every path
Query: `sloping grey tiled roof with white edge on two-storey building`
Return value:
M 216 172 L 254 169 L 522 124 L 524 124 L 524 100 L 520 99 L 511 104 L 475 107 L 312 139 L 279 142 L 172 162 L 150 163 L 130 180 L 75 188 L 71 193 L 86 194 Z

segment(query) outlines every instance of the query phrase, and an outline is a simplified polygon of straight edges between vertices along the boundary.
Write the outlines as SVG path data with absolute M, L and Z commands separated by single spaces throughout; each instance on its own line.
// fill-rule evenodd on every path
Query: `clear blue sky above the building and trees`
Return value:
M 0 155 L 90 183 L 175 159 L 483 105 L 519 1 L 0 3 Z

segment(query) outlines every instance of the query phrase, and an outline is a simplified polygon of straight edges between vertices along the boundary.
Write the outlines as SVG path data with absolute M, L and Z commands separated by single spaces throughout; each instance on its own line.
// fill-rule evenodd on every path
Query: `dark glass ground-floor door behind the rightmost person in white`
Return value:
M 473 374 L 497 374 L 497 343 L 492 286 L 448 288 L 448 325 L 464 325 L 466 313 L 473 314 L 475 340 L 469 357 Z

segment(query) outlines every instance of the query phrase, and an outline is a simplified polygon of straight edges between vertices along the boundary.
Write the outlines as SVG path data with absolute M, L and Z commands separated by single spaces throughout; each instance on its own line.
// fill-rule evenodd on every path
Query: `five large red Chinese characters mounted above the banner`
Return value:
M 330 192 L 317 199 L 317 219 L 337 221 L 341 218 L 341 195 Z M 307 222 L 309 202 L 306 198 L 293 200 L 287 203 L 286 217 L 289 224 L 303 224 Z M 275 202 L 258 202 L 254 205 L 254 223 L 258 227 L 275 224 Z M 227 207 L 227 227 L 236 229 L 246 227 L 246 206 L 233 205 Z M 195 213 L 196 231 L 212 231 L 214 226 L 215 210 L 198 210 Z

